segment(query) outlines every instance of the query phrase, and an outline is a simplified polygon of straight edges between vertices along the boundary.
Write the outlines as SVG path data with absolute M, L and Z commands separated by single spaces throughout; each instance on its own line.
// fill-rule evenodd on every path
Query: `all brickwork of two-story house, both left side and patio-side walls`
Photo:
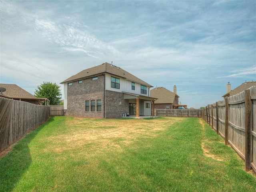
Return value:
M 66 116 L 85 118 L 104 118 L 104 76 L 82 80 L 82 83 L 72 82 L 68 86 Z M 95 100 L 95 111 L 91 112 L 91 100 Z M 97 100 L 101 100 L 101 112 L 97 111 Z M 89 101 L 89 112 L 85 111 L 85 101 Z M 119 102 L 121 104 L 119 105 Z M 105 118 L 120 118 L 129 112 L 129 100 L 124 100 L 124 94 L 105 91 Z

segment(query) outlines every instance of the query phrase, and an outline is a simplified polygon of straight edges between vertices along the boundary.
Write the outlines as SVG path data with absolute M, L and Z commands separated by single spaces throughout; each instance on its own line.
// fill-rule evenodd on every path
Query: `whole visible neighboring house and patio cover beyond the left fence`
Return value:
M 49 100 L 47 98 L 37 98 L 16 84 L 1 83 L 0 96 L 14 100 L 25 101 L 36 105 L 42 105 L 43 102 L 45 102 L 46 105 L 49 104 Z

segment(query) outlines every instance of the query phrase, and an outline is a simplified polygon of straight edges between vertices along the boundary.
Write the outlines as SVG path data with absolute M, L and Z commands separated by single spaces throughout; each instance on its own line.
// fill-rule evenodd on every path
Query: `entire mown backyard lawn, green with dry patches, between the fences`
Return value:
M 51 117 L 0 158 L 0 191 L 255 192 L 200 118 Z

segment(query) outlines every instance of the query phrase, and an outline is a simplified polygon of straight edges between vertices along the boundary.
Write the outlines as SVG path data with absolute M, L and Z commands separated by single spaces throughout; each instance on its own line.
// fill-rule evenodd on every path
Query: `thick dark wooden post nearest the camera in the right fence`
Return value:
M 252 104 L 250 90 L 245 90 L 245 170 L 251 170 Z

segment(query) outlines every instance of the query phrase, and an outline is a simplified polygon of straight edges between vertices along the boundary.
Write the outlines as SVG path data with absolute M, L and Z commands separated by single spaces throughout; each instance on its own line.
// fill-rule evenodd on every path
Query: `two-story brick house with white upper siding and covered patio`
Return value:
M 64 112 L 87 118 L 151 116 L 150 84 L 120 67 L 104 63 L 79 72 L 64 84 Z

